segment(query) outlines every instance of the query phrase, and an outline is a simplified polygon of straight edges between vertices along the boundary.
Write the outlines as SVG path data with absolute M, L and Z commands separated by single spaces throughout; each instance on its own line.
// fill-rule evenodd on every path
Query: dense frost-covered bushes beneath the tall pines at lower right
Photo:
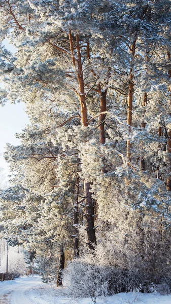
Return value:
M 141 236 L 138 230 L 119 234 L 114 227 L 98 234 L 95 252 L 84 250 L 64 270 L 63 285 L 71 295 L 96 298 L 136 290 L 151 292 L 152 283 L 169 285 L 167 237 L 165 242 L 161 240 L 155 222 L 143 229 Z

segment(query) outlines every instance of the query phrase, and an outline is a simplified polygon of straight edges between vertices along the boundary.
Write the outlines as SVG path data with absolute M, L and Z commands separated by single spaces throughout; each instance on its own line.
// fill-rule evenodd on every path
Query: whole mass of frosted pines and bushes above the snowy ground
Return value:
M 170 286 L 170 1 L 0 7 L 1 103 L 30 119 L 6 148 L 3 236 L 44 281 L 65 262 L 77 296 Z

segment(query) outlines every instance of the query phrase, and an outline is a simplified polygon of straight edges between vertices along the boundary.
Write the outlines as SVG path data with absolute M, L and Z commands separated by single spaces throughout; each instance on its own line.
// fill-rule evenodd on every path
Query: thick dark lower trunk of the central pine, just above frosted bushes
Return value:
M 90 192 L 90 182 L 84 183 L 85 196 L 86 196 L 86 230 L 88 236 L 88 246 L 94 250 L 96 243 L 95 228 L 94 228 L 94 200 Z

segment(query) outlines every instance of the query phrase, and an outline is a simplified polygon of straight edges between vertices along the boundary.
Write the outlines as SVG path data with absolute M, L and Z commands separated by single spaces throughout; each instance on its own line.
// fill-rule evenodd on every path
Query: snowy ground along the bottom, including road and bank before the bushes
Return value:
M 72 299 L 65 289 L 43 284 L 39 276 L 0 282 L 0 304 L 92 304 L 92 299 Z M 171 304 L 171 295 L 119 293 L 96 299 L 97 304 Z

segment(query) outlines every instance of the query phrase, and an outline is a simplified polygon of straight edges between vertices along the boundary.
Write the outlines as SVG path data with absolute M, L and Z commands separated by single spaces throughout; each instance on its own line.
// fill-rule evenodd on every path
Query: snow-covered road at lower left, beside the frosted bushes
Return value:
M 29 292 L 42 285 L 39 276 L 0 282 L 0 304 L 38 304 L 38 299 L 29 299 Z

